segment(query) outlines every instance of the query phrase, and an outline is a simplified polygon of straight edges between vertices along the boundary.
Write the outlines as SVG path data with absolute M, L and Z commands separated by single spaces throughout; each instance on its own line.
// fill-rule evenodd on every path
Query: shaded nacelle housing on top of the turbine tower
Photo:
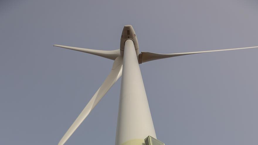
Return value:
M 132 25 L 125 25 L 122 31 L 121 40 L 120 40 L 120 54 L 121 56 L 124 55 L 124 49 L 125 49 L 125 41 L 131 39 L 133 40 L 135 52 L 137 57 L 139 56 L 139 45 L 138 40 L 135 34 L 135 31 L 133 29 Z

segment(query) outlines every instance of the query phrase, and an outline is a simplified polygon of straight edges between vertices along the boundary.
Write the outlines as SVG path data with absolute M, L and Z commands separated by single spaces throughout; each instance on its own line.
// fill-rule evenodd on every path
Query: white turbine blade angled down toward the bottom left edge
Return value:
M 91 110 L 99 103 L 101 98 L 107 93 L 107 91 L 113 86 L 113 84 L 120 78 L 122 75 L 123 68 L 123 58 L 117 57 L 113 63 L 112 70 L 103 84 L 100 86 L 98 91 L 91 98 L 86 107 L 82 110 L 80 115 L 76 118 L 72 126 L 67 130 L 65 135 L 59 141 L 58 145 L 63 145 L 67 139 L 74 133 L 74 131 L 79 127 L 82 121 L 89 115 Z

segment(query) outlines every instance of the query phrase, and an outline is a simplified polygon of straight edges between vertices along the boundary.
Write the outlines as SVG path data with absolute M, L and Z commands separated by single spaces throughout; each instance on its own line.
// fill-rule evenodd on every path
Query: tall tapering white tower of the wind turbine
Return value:
M 116 145 L 136 139 L 144 143 L 149 135 L 156 138 L 134 43 L 130 39 L 125 41 L 122 74 Z

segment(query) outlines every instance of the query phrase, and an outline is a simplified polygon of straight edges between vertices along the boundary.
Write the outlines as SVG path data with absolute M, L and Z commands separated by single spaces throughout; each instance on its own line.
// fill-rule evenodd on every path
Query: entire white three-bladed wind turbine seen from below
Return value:
M 120 76 L 122 76 L 122 81 L 116 129 L 116 145 L 142 145 L 142 143 L 145 143 L 145 138 L 148 136 L 157 138 L 139 64 L 156 59 L 189 54 L 258 48 L 258 46 L 255 46 L 172 54 L 158 54 L 152 52 L 140 53 L 137 36 L 135 35 L 132 25 L 124 26 L 120 40 L 120 49 L 118 50 L 104 51 L 63 45 L 54 46 L 86 52 L 114 60 L 110 74 L 82 110 L 72 126 L 67 130 L 58 145 L 65 144 L 67 139 L 69 139 L 77 127 L 79 127 Z M 146 143 L 146 145 L 147 144 L 148 143 Z

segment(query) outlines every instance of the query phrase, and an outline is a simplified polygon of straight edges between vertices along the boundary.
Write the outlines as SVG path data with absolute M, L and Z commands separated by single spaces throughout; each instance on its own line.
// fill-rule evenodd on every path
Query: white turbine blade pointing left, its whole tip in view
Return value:
M 64 46 L 64 45 L 54 45 L 54 46 L 62 47 L 70 50 L 76 50 L 80 52 L 86 52 L 89 54 L 98 55 L 112 60 L 115 60 L 117 57 L 120 56 L 120 49 L 107 51 L 107 50 L 93 50 L 93 49 L 87 49 L 87 48 L 70 47 L 70 46 Z

